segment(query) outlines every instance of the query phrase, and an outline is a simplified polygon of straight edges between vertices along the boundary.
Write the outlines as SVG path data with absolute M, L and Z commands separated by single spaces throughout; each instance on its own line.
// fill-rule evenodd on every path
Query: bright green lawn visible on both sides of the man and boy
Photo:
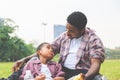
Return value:
M 55 61 L 57 58 L 54 59 Z M 13 62 L 0 63 L 0 78 L 7 78 L 11 73 Z M 105 60 L 101 66 L 100 73 L 108 80 L 120 80 L 120 60 Z

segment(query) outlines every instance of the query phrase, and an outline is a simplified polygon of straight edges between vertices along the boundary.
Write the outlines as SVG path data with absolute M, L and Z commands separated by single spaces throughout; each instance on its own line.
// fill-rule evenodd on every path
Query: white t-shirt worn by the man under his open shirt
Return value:
M 69 54 L 67 55 L 67 58 L 64 62 L 64 66 L 69 69 L 75 69 L 75 65 L 77 62 L 77 51 L 80 47 L 81 39 L 82 37 L 74 38 L 71 40 Z

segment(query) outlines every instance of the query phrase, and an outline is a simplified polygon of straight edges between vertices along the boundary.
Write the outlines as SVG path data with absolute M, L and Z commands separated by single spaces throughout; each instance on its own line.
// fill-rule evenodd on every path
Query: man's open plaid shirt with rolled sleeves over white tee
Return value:
M 58 38 L 52 42 L 53 49 L 55 53 L 60 53 L 59 62 L 63 65 L 64 61 L 69 54 L 71 39 L 68 38 L 67 33 L 64 32 Z M 105 50 L 103 43 L 100 38 L 95 34 L 90 28 L 86 28 L 85 34 L 80 43 L 80 47 L 77 51 L 77 63 L 76 69 L 86 69 L 90 68 L 91 58 L 97 58 L 101 62 L 104 61 Z

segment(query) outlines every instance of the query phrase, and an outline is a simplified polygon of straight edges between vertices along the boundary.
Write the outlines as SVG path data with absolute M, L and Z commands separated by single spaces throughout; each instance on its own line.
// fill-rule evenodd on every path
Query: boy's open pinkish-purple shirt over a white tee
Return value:
M 51 72 L 52 78 L 65 76 L 65 73 L 62 71 L 61 64 L 58 64 L 53 61 L 49 61 L 46 65 Z M 42 68 L 42 65 L 38 58 L 34 58 L 34 59 L 30 60 L 23 68 L 23 72 L 22 72 L 22 75 L 20 76 L 20 80 L 24 79 L 26 70 L 31 70 L 31 73 L 35 78 L 36 76 L 41 74 L 41 68 Z

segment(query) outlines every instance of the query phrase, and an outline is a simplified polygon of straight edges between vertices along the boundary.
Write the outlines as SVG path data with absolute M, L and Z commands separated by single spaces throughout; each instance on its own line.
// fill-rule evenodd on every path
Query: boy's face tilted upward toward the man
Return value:
M 52 59 L 54 56 L 54 52 L 50 44 L 44 44 L 39 53 L 42 57 L 48 60 Z

